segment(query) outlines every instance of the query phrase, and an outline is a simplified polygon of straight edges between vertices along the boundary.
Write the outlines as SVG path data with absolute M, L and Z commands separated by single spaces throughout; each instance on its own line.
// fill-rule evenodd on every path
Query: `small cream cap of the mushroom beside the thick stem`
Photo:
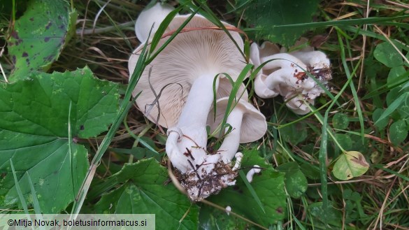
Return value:
M 215 131 L 217 127 L 222 123 L 224 114 L 227 109 L 227 102 L 229 97 L 224 97 L 216 101 L 216 117 L 214 119 L 213 109 L 210 110 L 208 115 L 208 125 L 210 125 L 210 132 Z M 236 104 L 236 108 L 240 108 L 243 111 L 243 120 L 241 122 L 241 134 L 240 143 L 249 143 L 257 141 L 263 137 L 267 131 L 266 117 L 262 113 L 254 108 L 251 103 L 240 99 Z

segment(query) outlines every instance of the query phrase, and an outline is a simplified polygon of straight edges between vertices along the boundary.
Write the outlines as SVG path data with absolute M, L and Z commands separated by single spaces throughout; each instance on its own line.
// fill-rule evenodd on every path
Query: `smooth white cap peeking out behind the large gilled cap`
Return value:
M 151 36 L 155 34 L 159 24 L 161 24 L 168 13 L 171 13 L 174 9 L 175 8 L 169 4 L 158 2 L 151 8 L 142 10 L 135 22 L 136 38 L 142 43 L 147 41 L 152 24 L 155 23 Z

